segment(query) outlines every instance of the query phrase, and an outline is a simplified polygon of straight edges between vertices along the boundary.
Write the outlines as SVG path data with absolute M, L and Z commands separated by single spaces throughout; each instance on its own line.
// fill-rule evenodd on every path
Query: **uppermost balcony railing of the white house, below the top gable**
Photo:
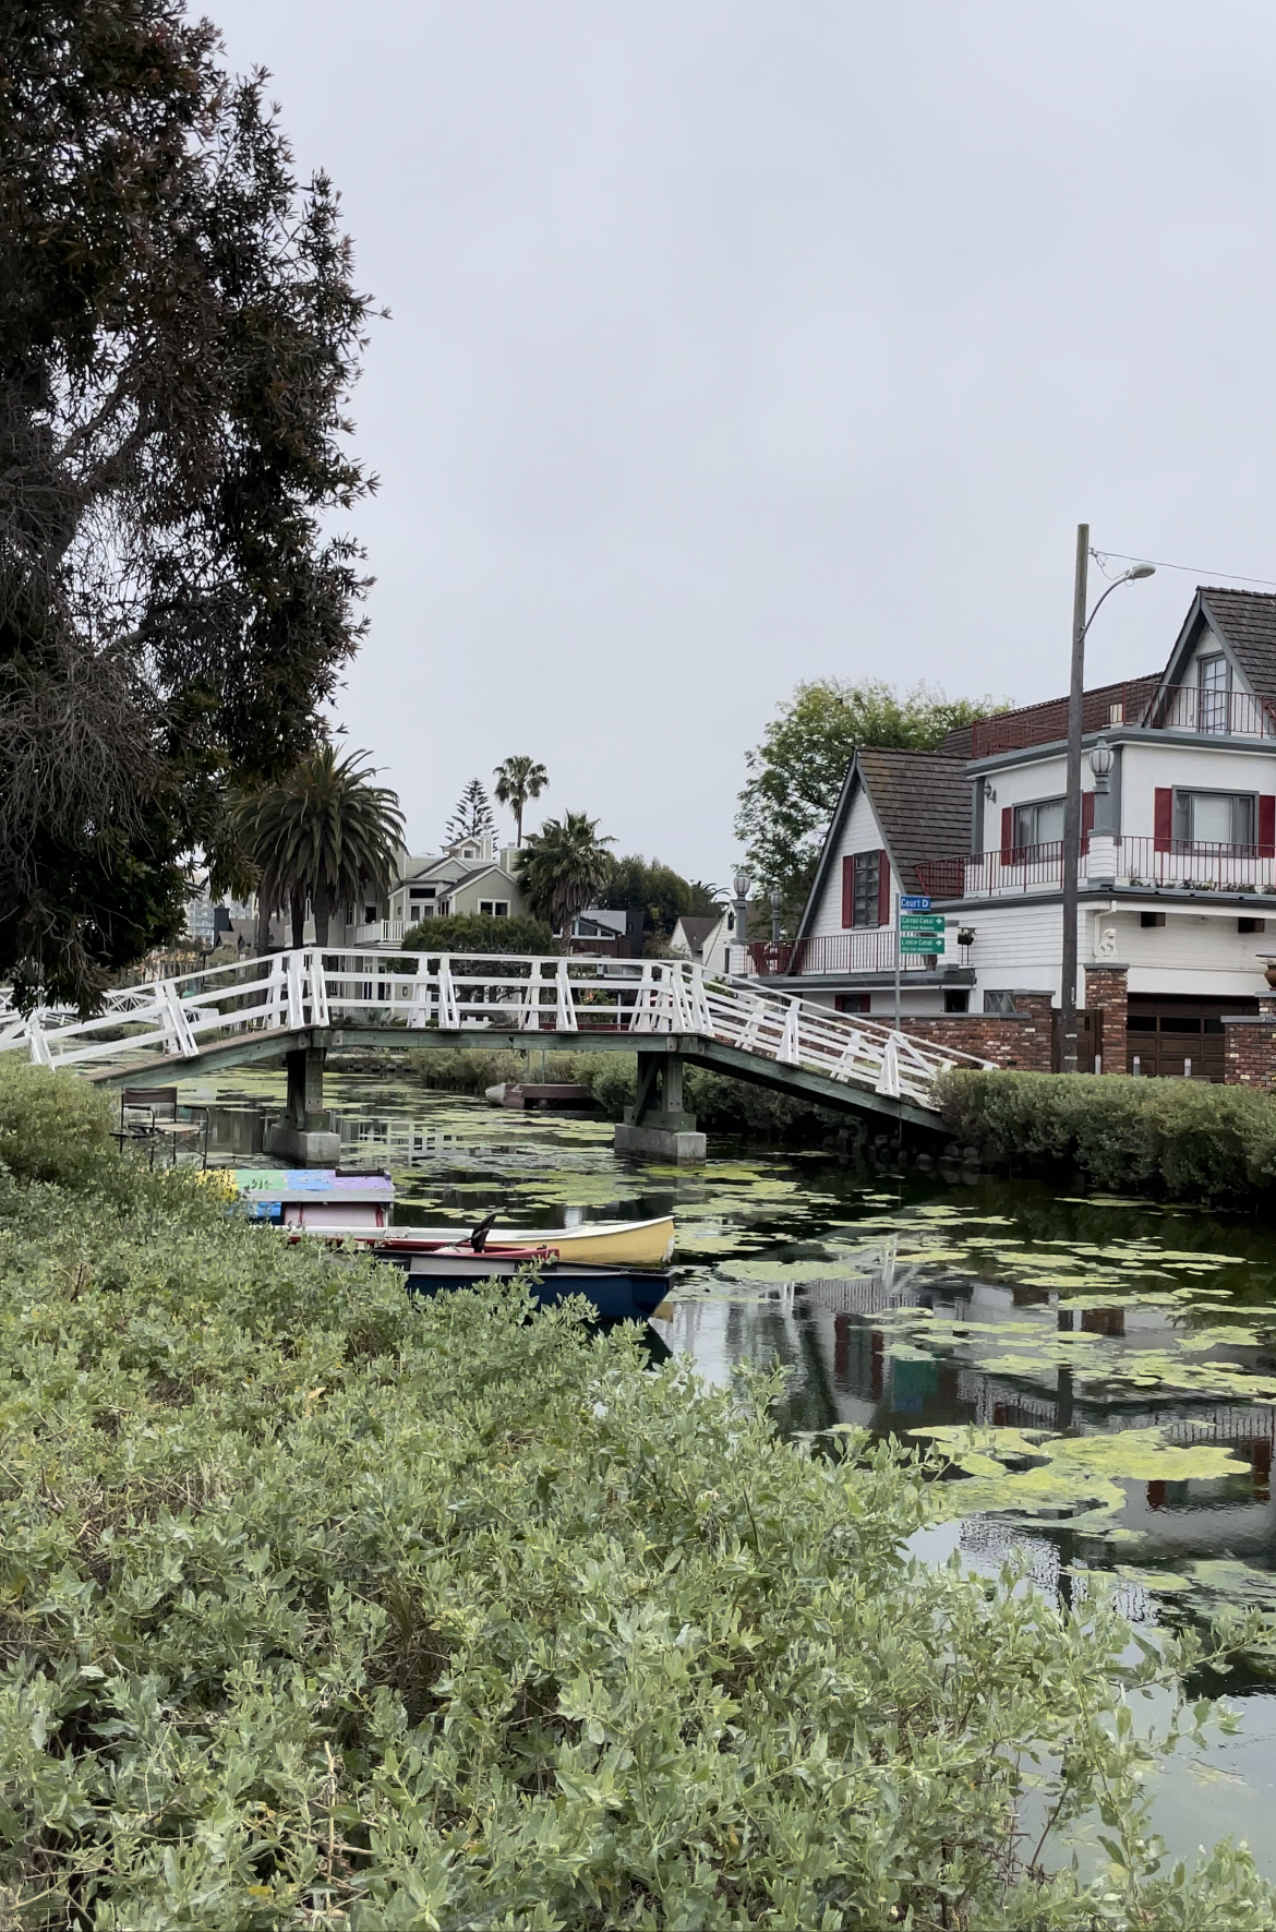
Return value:
M 1135 678 L 1085 694 L 1081 728 L 1191 730 L 1216 738 L 1276 738 L 1276 697 L 1251 692 L 1208 692 L 1199 684 L 1158 684 Z M 971 726 L 971 755 L 1025 752 L 1035 744 L 1062 744 L 1068 736 L 1068 699 L 1054 697 L 1023 711 L 1004 711 Z

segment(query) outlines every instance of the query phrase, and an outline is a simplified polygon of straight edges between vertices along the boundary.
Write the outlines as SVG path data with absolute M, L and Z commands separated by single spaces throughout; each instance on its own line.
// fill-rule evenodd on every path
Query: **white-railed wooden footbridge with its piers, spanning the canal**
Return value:
M 322 1107 L 330 1047 L 637 1051 L 635 1122 L 676 1128 L 681 1065 L 830 1107 L 936 1128 L 934 1076 L 986 1066 L 867 1018 L 830 1012 L 681 960 L 274 952 L 106 995 L 102 1012 L 17 1012 L 0 993 L 0 1053 L 108 1086 L 288 1055 L 290 1119 Z M 691 1122 L 693 1124 L 693 1122 Z

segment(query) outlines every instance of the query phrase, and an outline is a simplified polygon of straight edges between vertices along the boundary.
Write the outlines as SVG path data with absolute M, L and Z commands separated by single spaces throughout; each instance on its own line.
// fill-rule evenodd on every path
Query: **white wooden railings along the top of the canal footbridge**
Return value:
M 809 1068 L 890 1099 L 932 1107 L 942 1066 L 985 1066 L 871 1020 L 730 980 L 683 960 L 473 958 L 446 952 L 322 952 L 307 947 L 108 993 L 93 1020 L 14 1010 L 0 993 L 0 1053 L 39 1066 L 145 1072 L 210 1045 L 344 1022 L 403 1032 L 577 1036 L 691 1034 L 776 1066 Z M 529 1039 L 531 1043 L 531 1039 Z

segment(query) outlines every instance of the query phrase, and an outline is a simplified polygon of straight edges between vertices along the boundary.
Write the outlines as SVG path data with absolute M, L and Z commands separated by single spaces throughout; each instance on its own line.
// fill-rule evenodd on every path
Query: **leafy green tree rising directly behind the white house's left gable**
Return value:
M 859 746 L 934 752 L 961 724 L 1004 711 L 996 697 L 944 697 L 927 684 L 903 696 L 878 678 L 799 684 L 745 752 L 735 837 L 755 885 L 780 887 L 791 922 L 811 891 L 820 846 Z

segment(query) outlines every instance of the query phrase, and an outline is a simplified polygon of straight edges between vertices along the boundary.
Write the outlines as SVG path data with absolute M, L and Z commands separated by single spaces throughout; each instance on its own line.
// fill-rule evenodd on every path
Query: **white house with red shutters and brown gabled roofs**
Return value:
M 888 1018 L 898 900 L 927 895 L 946 943 L 900 958 L 905 1018 L 1058 1005 L 1066 728 L 1056 699 L 859 752 L 797 933 L 751 968 Z M 1222 1014 L 1276 958 L 1276 595 L 1199 589 L 1162 672 L 1087 692 L 1081 782 L 1077 999 L 1125 968 L 1129 1070 L 1222 1078 Z

